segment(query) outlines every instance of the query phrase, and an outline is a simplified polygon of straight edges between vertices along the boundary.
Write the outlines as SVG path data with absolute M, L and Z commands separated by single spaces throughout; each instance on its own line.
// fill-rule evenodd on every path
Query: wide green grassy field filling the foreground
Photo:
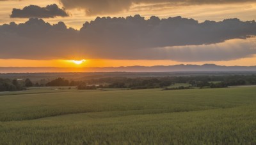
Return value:
M 256 144 L 256 88 L 4 92 L 0 144 Z

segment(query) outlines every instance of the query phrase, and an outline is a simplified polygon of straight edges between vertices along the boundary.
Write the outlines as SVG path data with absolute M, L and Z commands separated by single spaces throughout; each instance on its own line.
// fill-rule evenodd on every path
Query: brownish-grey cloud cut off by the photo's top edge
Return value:
M 106 15 L 129 10 L 133 4 L 171 4 L 173 6 L 195 4 L 228 4 L 256 2 L 256 0 L 60 0 L 65 8 L 83 9 L 86 15 Z

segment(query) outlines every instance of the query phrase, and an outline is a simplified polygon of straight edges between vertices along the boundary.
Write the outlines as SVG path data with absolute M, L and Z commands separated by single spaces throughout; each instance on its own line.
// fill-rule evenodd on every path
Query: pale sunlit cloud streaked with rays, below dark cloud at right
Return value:
M 150 49 L 150 58 L 179 62 L 227 61 L 256 54 L 256 38 L 232 39 L 212 45 L 172 46 Z M 149 57 L 149 56 L 147 56 Z

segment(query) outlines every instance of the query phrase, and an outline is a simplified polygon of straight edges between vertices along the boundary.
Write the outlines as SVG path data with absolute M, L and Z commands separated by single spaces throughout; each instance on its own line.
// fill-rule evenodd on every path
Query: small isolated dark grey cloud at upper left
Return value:
M 51 4 L 46 7 L 29 5 L 20 9 L 13 8 L 11 18 L 54 18 L 68 17 L 68 13 L 60 9 L 57 4 Z

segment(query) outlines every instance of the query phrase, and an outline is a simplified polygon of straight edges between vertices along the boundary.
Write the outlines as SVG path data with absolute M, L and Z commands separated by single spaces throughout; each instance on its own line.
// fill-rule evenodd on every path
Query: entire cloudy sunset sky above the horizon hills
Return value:
M 255 13 L 256 0 L 0 0 L 0 67 L 256 66 Z

